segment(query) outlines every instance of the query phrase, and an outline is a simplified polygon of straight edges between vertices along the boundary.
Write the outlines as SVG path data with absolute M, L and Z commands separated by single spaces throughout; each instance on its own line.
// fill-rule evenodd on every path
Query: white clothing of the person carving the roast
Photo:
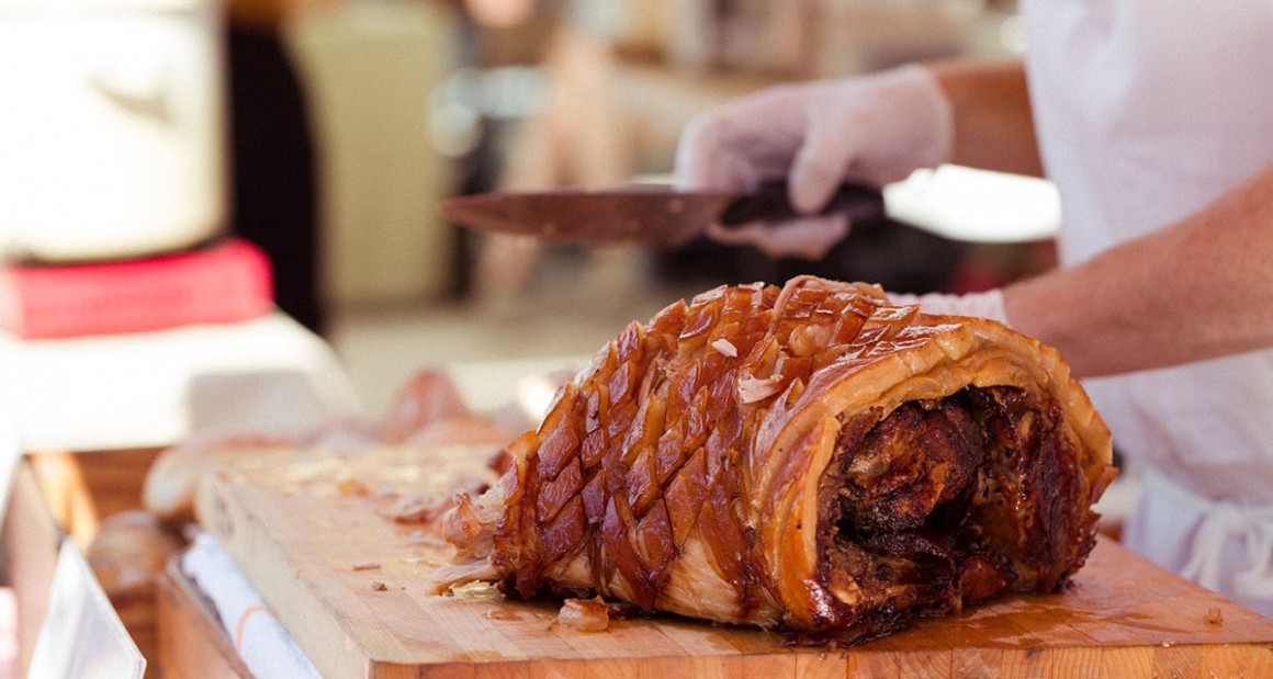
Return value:
M 1020 8 L 1044 167 L 1062 195 L 1063 264 L 1171 224 L 1273 163 L 1273 0 Z M 1180 319 L 1181 333 L 1198 332 L 1189 323 Z M 1199 558 L 1225 551 L 1203 533 L 1273 551 L 1270 515 L 1253 509 L 1273 506 L 1273 350 L 1085 387 L 1115 446 L 1144 463 L 1153 483 L 1178 486 L 1152 500 L 1158 519 L 1171 520 L 1133 515 L 1133 548 L 1195 577 Z M 1250 520 L 1235 524 L 1232 509 Z M 1220 514 L 1222 526 L 1207 521 Z M 1204 544 L 1213 556 L 1195 553 Z M 1214 577 L 1200 579 L 1236 596 L 1226 584 L 1234 573 L 1268 570 L 1267 554 L 1250 559 L 1264 563 L 1227 558 L 1225 572 L 1203 567 Z M 1244 603 L 1273 614 L 1273 573 L 1268 581 L 1267 607 Z

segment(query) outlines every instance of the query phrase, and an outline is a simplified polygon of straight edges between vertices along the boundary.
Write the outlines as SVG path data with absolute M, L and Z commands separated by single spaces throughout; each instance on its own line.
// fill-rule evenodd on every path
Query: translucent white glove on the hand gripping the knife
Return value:
M 771 257 L 819 258 L 848 235 L 841 215 L 816 216 L 845 181 L 882 187 L 950 158 L 950 102 L 922 66 L 780 85 L 694 120 L 681 136 L 676 183 L 746 189 L 787 178 L 789 200 L 810 215 L 780 226 L 712 225 L 723 243 L 752 244 Z

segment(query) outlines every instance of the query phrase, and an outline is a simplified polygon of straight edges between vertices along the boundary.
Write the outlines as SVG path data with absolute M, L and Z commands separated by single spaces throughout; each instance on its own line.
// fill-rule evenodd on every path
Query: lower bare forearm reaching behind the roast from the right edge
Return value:
M 1081 376 L 1273 346 L 1273 165 L 1175 225 L 1009 286 L 1004 305 Z

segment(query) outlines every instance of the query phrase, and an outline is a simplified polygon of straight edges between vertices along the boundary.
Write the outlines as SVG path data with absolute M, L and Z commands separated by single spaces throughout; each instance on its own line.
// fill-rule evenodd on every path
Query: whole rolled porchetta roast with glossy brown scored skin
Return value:
M 498 582 L 853 643 L 1095 545 L 1109 430 L 1055 350 L 799 277 L 633 323 L 444 516 L 437 591 Z

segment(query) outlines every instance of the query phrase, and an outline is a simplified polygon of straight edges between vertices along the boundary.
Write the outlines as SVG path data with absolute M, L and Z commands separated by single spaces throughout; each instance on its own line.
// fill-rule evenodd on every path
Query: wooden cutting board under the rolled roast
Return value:
M 1273 621 L 1104 538 L 1063 594 L 1009 596 L 850 650 L 671 615 L 582 633 L 556 624 L 550 601 L 430 596 L 446 549 L 387 518 L 404 493 L 437 487 L 425 459 L 266 449 L 216 455 L 202 477 L 201 524 L 325 676 L 1273 676 Z

